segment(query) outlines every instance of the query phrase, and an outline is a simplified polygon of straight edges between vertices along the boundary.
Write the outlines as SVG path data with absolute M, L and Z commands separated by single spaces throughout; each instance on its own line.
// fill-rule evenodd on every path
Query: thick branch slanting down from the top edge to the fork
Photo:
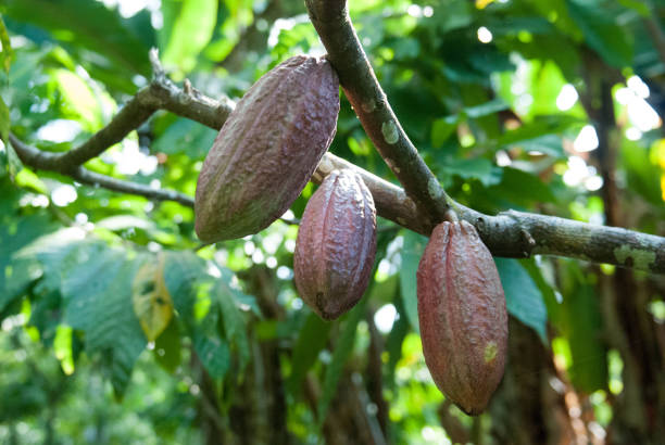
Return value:
M 306 0 L 312 24 L 363 128 L 428 221 L 441 221 L 446 192 L 409 140 L 360 43 L 343 0 Z

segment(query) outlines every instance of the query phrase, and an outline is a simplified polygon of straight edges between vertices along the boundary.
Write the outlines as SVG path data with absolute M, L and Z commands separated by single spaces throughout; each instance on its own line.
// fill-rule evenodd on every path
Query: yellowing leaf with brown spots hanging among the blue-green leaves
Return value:
M 153 342 L 173 317 L 173 302 L 164 282 L 164 256 L 146 263 L 134 278 L 131 303 L 148 341 Z

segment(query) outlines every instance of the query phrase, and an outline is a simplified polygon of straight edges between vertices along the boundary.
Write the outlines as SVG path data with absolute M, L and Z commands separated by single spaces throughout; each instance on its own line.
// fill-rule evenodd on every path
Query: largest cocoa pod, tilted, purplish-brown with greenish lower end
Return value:
M 205 157 L 195 199 L 201 241 L 265 229 L 298 198 L 335 137 L 339 80 L 326 59 L 297 55 L 261 77 Z

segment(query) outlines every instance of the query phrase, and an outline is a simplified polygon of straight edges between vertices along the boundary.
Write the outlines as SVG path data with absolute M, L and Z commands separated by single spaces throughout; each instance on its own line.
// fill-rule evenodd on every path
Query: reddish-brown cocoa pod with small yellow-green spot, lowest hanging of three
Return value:
M 434 229 L 417 271 L 423 354 L 443 394 L 475 416 L 503 377 L 505 296 L 497 266 L 470 224 Z

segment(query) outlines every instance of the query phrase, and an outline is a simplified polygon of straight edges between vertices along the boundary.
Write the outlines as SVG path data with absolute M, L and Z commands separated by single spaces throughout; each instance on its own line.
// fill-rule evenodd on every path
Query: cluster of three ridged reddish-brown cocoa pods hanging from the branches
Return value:
M 294 56 L 261 77 L 219 130 L 197 183 L 204 242 L 256 233 L 300 195 L 330 145 L 339 80 L 325 58 Z M 351 169 L 329 174 L 309 200 L 293 254 L 303 301 L 339 317 L 365 292 L 376 254 L 372 193 Z M 481 412 L 502 376 L 507 314 L 491 254 L 466 221 L 437 226 L 417 271 L 423 353 L 461 409 Z

